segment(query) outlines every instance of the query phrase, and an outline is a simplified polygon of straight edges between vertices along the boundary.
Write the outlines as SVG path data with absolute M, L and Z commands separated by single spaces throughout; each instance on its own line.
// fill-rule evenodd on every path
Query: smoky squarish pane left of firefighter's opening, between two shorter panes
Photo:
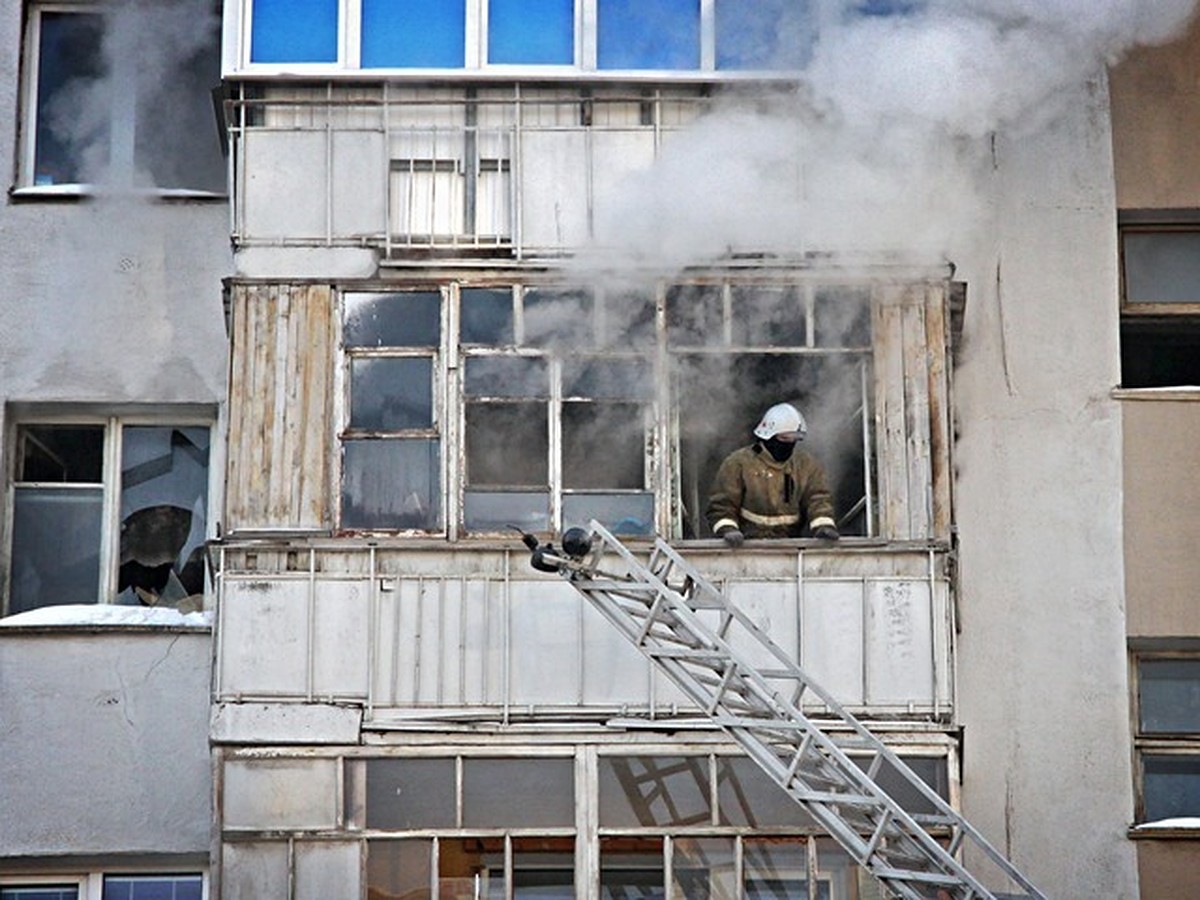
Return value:
M 563 403 L 562 418 L 563 487 L 646 487 L 646 425 L 640 403 Z

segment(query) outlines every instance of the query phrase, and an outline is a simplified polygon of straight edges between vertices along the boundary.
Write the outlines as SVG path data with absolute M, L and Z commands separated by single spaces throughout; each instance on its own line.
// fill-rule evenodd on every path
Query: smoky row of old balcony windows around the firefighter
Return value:
M 792 401 L 839 528 L 874 533 L 865 288 L 446 284 L 348 293 L 342 326 L 343 528 L 706 538 L 721 460 Z

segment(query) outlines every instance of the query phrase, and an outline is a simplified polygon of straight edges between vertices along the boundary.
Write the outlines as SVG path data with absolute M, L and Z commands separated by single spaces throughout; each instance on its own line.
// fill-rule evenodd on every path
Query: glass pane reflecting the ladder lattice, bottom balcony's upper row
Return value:
M 604 756 L 600 824 L 712 824 L 707 756 Z

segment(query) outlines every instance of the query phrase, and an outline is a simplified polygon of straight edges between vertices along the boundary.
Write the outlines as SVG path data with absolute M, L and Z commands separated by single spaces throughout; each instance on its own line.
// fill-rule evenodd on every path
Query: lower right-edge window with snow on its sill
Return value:
M 1136 660 L 1138 821 L 1200 815 L 1200 658 Z

